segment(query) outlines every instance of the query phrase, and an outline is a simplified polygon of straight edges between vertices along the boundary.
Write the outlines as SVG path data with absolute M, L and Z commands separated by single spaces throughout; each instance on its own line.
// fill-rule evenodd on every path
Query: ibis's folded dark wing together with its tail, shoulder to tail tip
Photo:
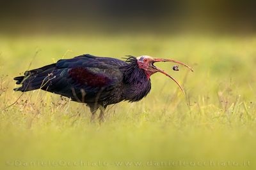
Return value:
M 111 96 L 111 92 L 120 85 L 123 73 L 119 67 L 127 64 L 118 59 L 81 55 L 73 59 L 58 60 L 55 64 L 26 71 L 24 76 L 16 77 L 22 92 L 42 89 L 66 97 L 81 98 L 86 93 L 87 101 L 95 101 Z M 94 101 L 93 101 L 94 100 Z M 99 101 L 98 100 L 98 101 Z

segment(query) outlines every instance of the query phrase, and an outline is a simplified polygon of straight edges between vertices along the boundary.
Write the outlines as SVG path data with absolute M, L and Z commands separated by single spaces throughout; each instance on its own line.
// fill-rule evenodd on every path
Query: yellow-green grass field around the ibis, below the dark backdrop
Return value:
M 14 76 L 83 53 L 151 55 L 157 66 L 138 103 L 90 110 L 42 90 L 13 92 Z M 0 169 L 255 169 L 256 36 L 0 36 Z

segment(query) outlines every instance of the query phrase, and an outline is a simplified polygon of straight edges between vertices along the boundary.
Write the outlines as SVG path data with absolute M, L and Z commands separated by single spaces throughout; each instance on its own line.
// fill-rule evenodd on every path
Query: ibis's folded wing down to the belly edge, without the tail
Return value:
M 100 92 L 98 101 L 103 100 L 123 80 L 123 73 L 119 69 L 123 64 L 125 62 L 122 60 L 104 57 L 79 56 L 59 60 L 47 90 L 78 98 L 81 98 L 83 91 L 87 101 L 95 100 L 95 95 Z

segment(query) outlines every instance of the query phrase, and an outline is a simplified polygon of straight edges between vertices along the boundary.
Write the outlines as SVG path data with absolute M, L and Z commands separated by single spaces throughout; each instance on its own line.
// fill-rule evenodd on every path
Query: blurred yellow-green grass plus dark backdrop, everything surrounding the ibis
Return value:
M 255 169 L 255 18 L 253 1 L 1 1 L 0 169 Z M 14 76 L 83 53 L 195 72 L 157 63 L 186 94 L 156 73 L 101 125 L 83 104 L 13 92 Z

